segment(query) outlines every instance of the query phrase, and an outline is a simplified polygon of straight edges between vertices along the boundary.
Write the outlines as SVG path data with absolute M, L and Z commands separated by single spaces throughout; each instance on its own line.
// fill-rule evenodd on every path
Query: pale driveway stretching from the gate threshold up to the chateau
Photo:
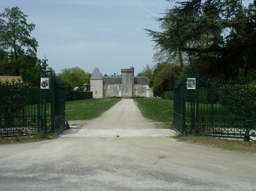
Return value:
M 174 130 L 156 128 L 161 124 L 144 118 L 130 99 L 121 100 L 99 118 L 68 123 L 81 126 L 61 133 L 61 137 L 169 137 L 176 134 Z

